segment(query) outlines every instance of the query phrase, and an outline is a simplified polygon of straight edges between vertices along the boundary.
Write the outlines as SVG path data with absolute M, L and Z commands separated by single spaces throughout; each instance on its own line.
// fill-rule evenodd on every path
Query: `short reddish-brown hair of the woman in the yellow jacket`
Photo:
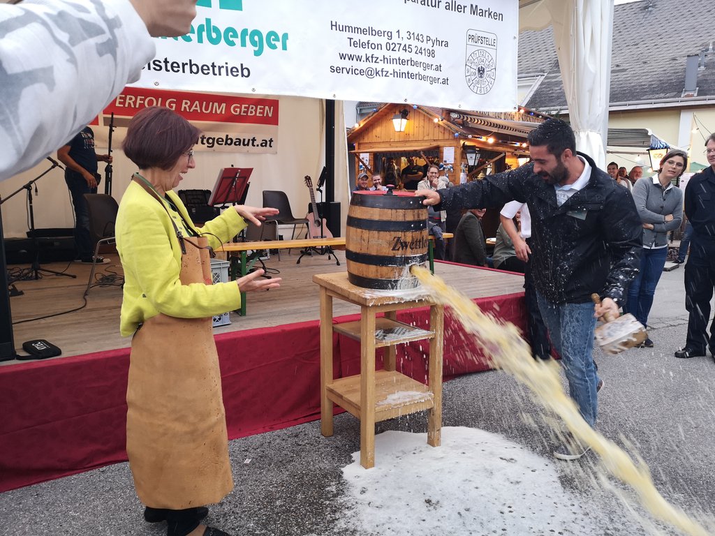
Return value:
M 201 131 L 162 106 L 139 111 L 129 123 L 122 149 L 139 169 L 172 169 L 182 154 L 196 144 Z

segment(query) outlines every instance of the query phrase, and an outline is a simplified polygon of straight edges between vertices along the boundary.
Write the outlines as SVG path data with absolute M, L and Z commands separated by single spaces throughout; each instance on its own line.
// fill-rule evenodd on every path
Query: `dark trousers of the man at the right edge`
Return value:
M 705 347 L 715 354 L 715 322 L 707 327 L 710 300 L 715 288 L 715 237 L 695 235 L 690 244 L 690 256 L 685 265 L 685 308 L 690 313 L 686 346 L 704 353 Z

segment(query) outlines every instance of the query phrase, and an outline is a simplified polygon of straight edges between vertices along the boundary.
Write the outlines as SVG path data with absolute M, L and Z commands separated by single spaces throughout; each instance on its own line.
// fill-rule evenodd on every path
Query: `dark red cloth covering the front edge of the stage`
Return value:
M 523 292 L 475 302 L 525 331 Z M 398 319 L 425 325 L 428 308 L 400 312 Z M 230 439 L 320 418 L 317 321 L 215 339 Z M 398 346 L 398 370 L 426 382 L 428 348 Z M 358 374 L 358 342 L 336 334 L 333 359 L 336 377 Z M 487 357 L 447 314 L 445 379 L 488 368 Z M 0 367 L 0 492 L 126 461 L 128 369 L 129 349 Z

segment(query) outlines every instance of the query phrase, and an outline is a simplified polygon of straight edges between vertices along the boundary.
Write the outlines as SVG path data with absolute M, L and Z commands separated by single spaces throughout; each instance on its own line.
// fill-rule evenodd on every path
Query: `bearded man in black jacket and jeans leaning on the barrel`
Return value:
M 638 271 L 641 219 L 628 191 L 590 157 L 576 153 L 568 124 L 547 119 L 531 131 L 528 142 L 529 164 L 483 181 L 417 194 L 425 196 L 425 204 L 440 204 L 441 209 L 526 202 L 539 309 L 561 355 L 571 398 L 593 427 L 596 392 L 602 385 L 591 355 L 596 317 L 606 312 L 618 316 Z M 593 292 L 601 295 L 601 304 L 594 306 Z M 588 450 L 569 443 L 571 447 L 558 447 L 554 456 L 577 460 Z

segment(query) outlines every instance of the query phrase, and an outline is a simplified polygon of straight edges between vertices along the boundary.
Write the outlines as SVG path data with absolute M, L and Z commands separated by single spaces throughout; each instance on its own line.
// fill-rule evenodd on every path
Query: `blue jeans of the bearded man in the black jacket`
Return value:
M 598 413 L 598 373 L 593 362 L 593 330 L 596 329 L 593 303 L 554 304 L 538 292 L 536 297 L 551 344 L 561 355 L 568 394 L 576 402 L 583 420 L 594 427 Z

